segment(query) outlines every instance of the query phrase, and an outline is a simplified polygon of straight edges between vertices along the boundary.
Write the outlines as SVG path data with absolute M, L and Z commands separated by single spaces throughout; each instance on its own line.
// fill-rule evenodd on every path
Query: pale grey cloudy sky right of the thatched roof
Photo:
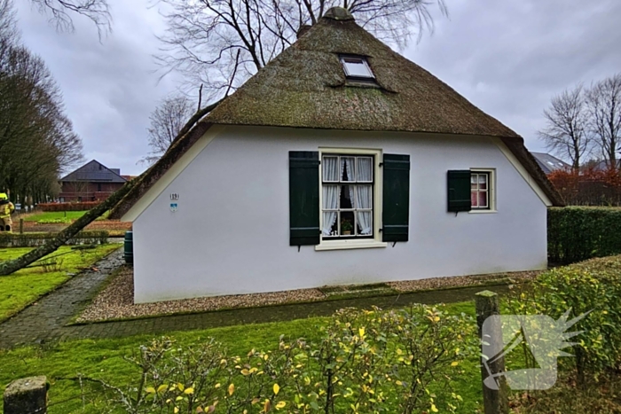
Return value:
M 476 4 L 476 5 L 475 5 Z M 550 98 L 621 71 L 621 2 L 459 0 L 406 56 L 541 150 Z

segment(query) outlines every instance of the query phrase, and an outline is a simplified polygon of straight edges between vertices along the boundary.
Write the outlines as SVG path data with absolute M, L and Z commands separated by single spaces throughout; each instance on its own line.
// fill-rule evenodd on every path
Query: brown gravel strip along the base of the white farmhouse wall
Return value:
M 539 273 L 540 271 L 525 271 L 485 276 L 433 277 L 404 282 L 389 282 L 386 285 L 389 285 L 396 293 L 410 293 L 427 289 L 484 285 L 492 280 L 507 277 L 529 279 L 536 277 Z M 348 291 L 344 289 L 340 293 L 348 293 Z M 125 267 L 119 272 L 118 276 L 114 277 L 114 279 L 110 281 L 110 284 L 98 294 L 90 306 L 78 317 L 76 322 L 84 323 L 143 316 L 166 316 L 217 309 L 240 309 L 283 303 L 321 301 L 326 298 L 327 295 L 322 293 L 319 289 L 300 289 L 276 293 L 240 294 L 134 304 L 133 272 L 131 268 Z

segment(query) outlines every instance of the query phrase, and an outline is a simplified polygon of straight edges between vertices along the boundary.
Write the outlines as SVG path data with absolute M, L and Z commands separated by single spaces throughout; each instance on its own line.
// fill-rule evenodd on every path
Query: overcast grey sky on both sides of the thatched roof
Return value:
M 178 78 L 158 82 L 156 34 L 164 30 L 153 0 L 110 0 L 114 32 L 75 17 L 75 33 L 57 33 L 46 17 L 16 0 L 23 41 L 43 57 L 63 91 L 86 160 L 122 174 L 144 169 L 149 113 Z M 446 0 L 436 31 L 405 57 L 436 74 L 484 112 L 515 129 L 531 151 L 550 98 L 577 82 L 621 72 L 619 0 Z

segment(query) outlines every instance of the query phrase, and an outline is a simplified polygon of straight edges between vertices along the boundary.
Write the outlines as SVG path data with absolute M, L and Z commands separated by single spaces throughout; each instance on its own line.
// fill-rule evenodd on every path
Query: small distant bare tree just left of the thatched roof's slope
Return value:
M 140 162 L 151 165 L 159 160 L 194 112 L 192 101 L 185 96 L 164 99 L 149 117 L 151 126 L 147 131 L 151 152 Z

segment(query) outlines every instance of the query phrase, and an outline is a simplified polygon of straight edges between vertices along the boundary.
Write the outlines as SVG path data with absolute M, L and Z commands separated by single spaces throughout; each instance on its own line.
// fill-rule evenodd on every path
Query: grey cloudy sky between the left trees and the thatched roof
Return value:
M 174 77 L 158 83 L 153 53 L 163 27 L 147 0 L 112 0 L 114 31 L 98 41 L 90 21 L 75 17 L 75 33 L 57 33 L 46 18 L 20 1 L 24 42 L 41 55 L 59 83 L 67 113 L 95 158 L 123 174 L 138 174 L 148 152 L 146 127 L 158 101 L 175 90 Z

